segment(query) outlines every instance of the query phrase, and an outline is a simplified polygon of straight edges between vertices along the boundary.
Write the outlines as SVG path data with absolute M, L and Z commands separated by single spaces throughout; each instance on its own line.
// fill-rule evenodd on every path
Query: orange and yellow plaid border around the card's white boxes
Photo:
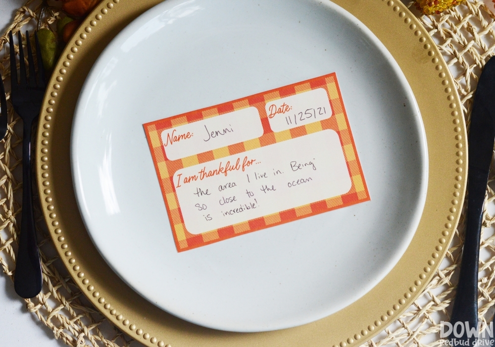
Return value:
M 268 116 L 265 111 L 265 104 L 267 102 L 317 88 L 323 88 L 327 91 L 330 105 L 333 110 L 333 115 L 330 118 L 301 125 L 285 131 L 273 132 L 271 130 L 268 122 Z M 223 115 L 233 111 L 242 110 L 248 107 L 256 107 L 258 109 L 264 130 L 261 137 L 178 160 L 167 159 L 160 136 L 163 130 L 192 123 L 198 120 Z M 370 200 L 368 188 L 366 186 L 361 165 L 357 157 L 356 146 L 354 144 L 354 139 L 352 138 L 352 133 L 350 131 L 347 114 L 335 73 L 273 89 L 267 92 L 258 93 L 246 98 L 205 109 L 156 120 L 146 123 L 143 126 L 148 138 L 149 149 L 153 158 L 156 174 L 160 182 L 160 188 L 167 208 L 175 244 L 179 252 L 204 246 L 209 243 L 217 242 L 251 231 L 273 227 L 279 224 L 288 223 L 297 219 Z M 347 162 L 347 168 L 352 181 L 351 189 L 346 194 L 317 201 L 308 205 L 299 206 L 286 211 L 281 211 L 268 216 L 252 219 L 229 227 L 203 232 L 198 235 L 192 234 L 186 230 L 173 183 L 173 176 L 177 170 L 227 157 L 229 155 L 242 153 L 251 149 L 268 146 L 277 142 L 290 140 L 313 132 L 322 131 L 324 129 L 332 129 L 339 134 L 342 149 Z

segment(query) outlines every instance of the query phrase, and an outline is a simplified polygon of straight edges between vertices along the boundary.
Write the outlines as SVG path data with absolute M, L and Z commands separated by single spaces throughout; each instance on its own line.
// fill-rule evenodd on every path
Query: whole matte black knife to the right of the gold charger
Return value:
M 466 325 L 478 329 L 478 261 L 480 258 L 480 236 L 483 221 L 483 205 L 492 161 L 495 139 L 495 59 L 491 58 L 481 73 L 474 95 L 471 127 L 469 129 L 469 181 L 466 236 L 462 250 L 462 262 L 450 323 L 461 322 L 451 339 L 466 341 L 464 346 L 473 346 L 476 338 L 468 338 Z M 467 345 L 469 341 L 469 345 Z

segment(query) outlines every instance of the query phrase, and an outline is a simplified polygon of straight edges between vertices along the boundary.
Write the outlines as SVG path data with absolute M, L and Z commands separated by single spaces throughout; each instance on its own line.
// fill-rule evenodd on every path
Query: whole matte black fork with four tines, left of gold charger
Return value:
M 35 33 L 38 73 L 35 71 L 33 52 L 26 31 L 28 50 L 29 76 L 26 73 L 22 35 L 19 40 L 19 81 L 17 81 L 17 64 L 14 51 L 12 32 L 9 33 L 10 45 L 10 100 L 15 112 L 23 121 L 22 138 L 22 215 L 19 235 L 19 250 L 15 265 L 14 288 L 17 294 L 24 298 L 38 295 L 43 284 L 40 263 L 40 252 L 36 238 L 36 228 L 33 211 L 33 192 L 31 181 L 31 129 L 40 113 L 41 103 L 45 95 L 45 71 L 40 54 L 40 43 Z

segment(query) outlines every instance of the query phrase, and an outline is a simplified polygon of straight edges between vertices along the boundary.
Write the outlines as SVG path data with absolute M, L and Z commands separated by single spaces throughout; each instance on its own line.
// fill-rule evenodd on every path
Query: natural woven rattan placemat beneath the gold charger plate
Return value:
M 408 3 L 413 11 L 413 2 Z M 36 24 L 41 0 L 28 0 L 18 9 L 13 22 L 6 28 L 0 38 L 0 73 L 8 88 L 9 56 L 7 33 L 12 30 L 25 32 L 23 26 Z M 52 23 L 58 16 L 50 13 L 48 22 Z M 420 21 L 437 42 L 450 71 L 454 77 L 459 96 L 463 104 L 466 123 L 469 117 L 473 94 L 478 76 L 485 61 L 495 51 L 495 16 L 487 6 L 478 0 L 467 0 L 462 5 L 440 15 L 420 16 Z M 46 24 L 45 24 L 46 25 Z M 17 49 L 17 48 L 16 48 Z M 7 92 L 7 100 L 9 99 Z M 8 104 L 9 129 L 2 141 L 0 153 L 0 263 L 3 272 L 11 280 L 15 269 L 20 216 L 22 180 L 20 179 L 22 147 L 22 127 L 20 119 Z M 495 168 L 495 167 L 494 167 Z M 495 172 L 495 170 L 494 170 Z M 487 202 L 484 215 L 480 253 L 479 278 L 479 316 L 482 329 L 493 317 L 492 306 L 495 304 L 492 292 L 495 278 L 495 235 L 492 225 L 495 223 L 495 175 L 491 173 L 487 187 Z M 493 188 L 492 188 L 493 187 Z M 453 295 L 457 283 L 456 275 L 460 262 L 460 249 L 463 242 L 464 218 L 461 217 L 458 230 L 447 252 L 446 258 L 436 276 L 413 305 L 385 331 L 367 343 L 370 346 L 396 345 L 442 345 L 440 339 L 441 322 L 448 321 Z M 45 222 L 38 218 L 39 243 L 43 263 L 44 286 L 42 292 L 34 299 L 25 300 L 26 309 L 35 314 L 49 329 L 56 339 L 61 339 L 69 346 L 140 346 L 113 327 L 99 312 L 89 304 L 79 288 L 74 284 L 59 261 L 57 253 L 45 231 Z

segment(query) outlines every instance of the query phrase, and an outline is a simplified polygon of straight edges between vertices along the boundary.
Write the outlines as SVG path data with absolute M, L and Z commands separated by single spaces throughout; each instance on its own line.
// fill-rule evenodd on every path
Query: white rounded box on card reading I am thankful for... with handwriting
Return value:
M 333 130 L 185 168 L 173 181 L 184 224 L 194 234 L 341 195 L 351 187 Z

